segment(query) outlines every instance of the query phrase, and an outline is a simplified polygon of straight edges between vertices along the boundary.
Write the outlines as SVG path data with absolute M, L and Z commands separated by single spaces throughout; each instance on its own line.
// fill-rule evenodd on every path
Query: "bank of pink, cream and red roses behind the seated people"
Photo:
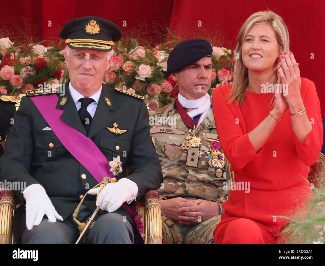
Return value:
M 155 47 L 140 46 L 132 38 L 117 42 L 103 84 L 143 95 L 150 111 L 171 103 L 177 97 L 178 87 L 166 72 L 167 59 L 178 42 L 170 34 L 172 41 Z M 0 39 L 0 52 L 4 55 L 0 61 L 0 93 L 19 95 L 44 86 L 44 83 L 57 87 L 67 81 L 69 73 L 64 62 L 63 40 L 59 44 L 51 42 L 53 46 L 47 47 L 43 42 L 15 46 L 8 37 Z M 227 84 L 233 77 L 227 70 L 231 50 L 212 48 L 210 95 L 215 87 Z

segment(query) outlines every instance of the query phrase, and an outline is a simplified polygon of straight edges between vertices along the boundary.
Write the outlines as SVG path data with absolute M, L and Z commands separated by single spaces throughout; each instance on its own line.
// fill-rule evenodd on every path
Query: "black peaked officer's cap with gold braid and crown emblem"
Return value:
M 59 33 L 72 49 L 110 51 L 122 32 L 114 23 L 98 17 L 83 17 L 64 24 Z

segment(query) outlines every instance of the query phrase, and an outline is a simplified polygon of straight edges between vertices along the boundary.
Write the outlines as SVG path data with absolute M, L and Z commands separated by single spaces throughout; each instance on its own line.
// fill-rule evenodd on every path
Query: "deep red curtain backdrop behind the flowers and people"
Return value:
M 49 27 L 59 29 L 71 19 L 97 16 L 112 21 L 121 27 L 137 27 L 146 21 L 146 30 L 153 29 L 152 21 L 159 21 L 169 28 L 202 27 L 213 34 L 217 29 L 223 37 L 223 44 L 229 49 L 236 46 L 236 38 L 242 23 L 254 12 L 271 9 L 286 22 L 290 32 L 290 46 L 299 63 L 302 77 L 312 80 L 317 88 L 325 118 L 324 85 L 324 43 L 325 43 L 325 1 L 323 0 L 272 0 L 272 1 L 215 1 L 215 0 L 164 0 L 164 1 L 9 1 L 1 0 L 0 18 L 3 23 L 14 23 L 23 27 L 20 18 L 26 18 L 31 31 L 38 27 L 38 38 L 47 39 Z M 123 28 L 123 20 L 127 27 Z M 189 32 L 188 32 L 189 33 Z M 156 34 L 153 33 L 152 34 Z M 190 34 L 189 34 L 190 35 Z M 182 32 L 185 38 L 187 31 Z M 6 37 L 6 36 L 0 36 Z M 154 36 L 152 36 L 154 38 Z M 314 59 L 310 59 L 310 54 Z M 323 62 L 323 63 L 321 63 Z

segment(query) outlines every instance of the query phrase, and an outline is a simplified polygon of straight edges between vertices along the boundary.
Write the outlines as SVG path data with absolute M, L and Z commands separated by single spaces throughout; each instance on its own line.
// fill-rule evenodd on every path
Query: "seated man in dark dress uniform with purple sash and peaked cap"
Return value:
M 159 188 L 162 172 L 143 97 L 102 86 L 121 30 L 83 17 L 67 22 L 59 35 L 67 39 L 70 81 L 26 92 L 0 158 L 1 180 L 26 184 L 23 193 L 15 191 L 23 203 L 13 217 L 15 239 L 75 243 L 80 232 L 73 211 L 89 192 L 77 219 L 86 222 L 96 206 L 107 213 L 99 215 L 85 243 L 141 243 L 133 206 Z M 118 181 L 100 192 L 91 189 L 105 176 Z

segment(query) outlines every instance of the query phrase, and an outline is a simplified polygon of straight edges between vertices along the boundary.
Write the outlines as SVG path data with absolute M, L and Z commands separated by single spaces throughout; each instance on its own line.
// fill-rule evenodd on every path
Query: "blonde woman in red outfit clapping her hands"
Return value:
M 289 43 L 280 16 L 254 13 L 238 34 L 233 84 L 214 89 L 221 147 L 235 181 L 250 188 L 231 190 L 214 243 L 279 243 L 288 220 L 277 216 L 294 217 L 312 199 L 307 175 L 323 142 L 320 104 Z

